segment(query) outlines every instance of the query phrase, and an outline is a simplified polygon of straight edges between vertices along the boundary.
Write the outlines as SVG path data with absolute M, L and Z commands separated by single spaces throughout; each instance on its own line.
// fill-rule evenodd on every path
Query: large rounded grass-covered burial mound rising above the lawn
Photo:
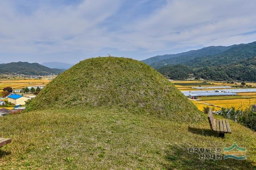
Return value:
M 27 111 L 66 107 L 114 107 L 197 121 L 202 113 L 152 67 L 119 57 L 86 59 L 50 82 Z

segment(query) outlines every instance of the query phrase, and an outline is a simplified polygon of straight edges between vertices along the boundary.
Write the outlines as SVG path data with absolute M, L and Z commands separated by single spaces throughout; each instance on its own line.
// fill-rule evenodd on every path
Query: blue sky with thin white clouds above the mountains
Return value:
M 137 60 L 256 41 L 255 0 L 8 0 L 0 63 Z

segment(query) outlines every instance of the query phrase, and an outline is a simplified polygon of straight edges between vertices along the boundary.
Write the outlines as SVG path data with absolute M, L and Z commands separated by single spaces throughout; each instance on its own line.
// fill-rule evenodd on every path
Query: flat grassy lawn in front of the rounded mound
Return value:
M 219 138 L 205 119 L 186 124 L 114 109 L 33 111 L 0 118 L 2 169 L 255 169 L 256 134 L 230 121 Z M 246 147 L 247 160 L 199 160 L 189 147 Z M 223 151 L 222 151 L 223 152 Z

